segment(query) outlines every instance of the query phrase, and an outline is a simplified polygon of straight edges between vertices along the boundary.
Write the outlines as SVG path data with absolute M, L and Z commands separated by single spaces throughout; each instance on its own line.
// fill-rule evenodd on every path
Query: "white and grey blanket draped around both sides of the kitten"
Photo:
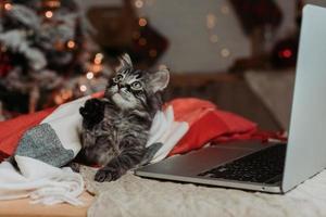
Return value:
M 71 162 L 82 148 L 78 108 L 88 99 L 82 98 L 59 106 L 41 125 L 23 136 L 15 155 L 20 171 L 8 162 L 0 164 L 0 200 L 30 197 L 35 203 L 42 204 L 82 204 L 78 200 L 84 190 L 82 176 L 71 168 L 58 167 Z M 166 157 L 188 128 L 186 123 L 174 122 L 171 106 L 158 112 L 147 146 L 156 142 L 163 145 L 152 162 Z

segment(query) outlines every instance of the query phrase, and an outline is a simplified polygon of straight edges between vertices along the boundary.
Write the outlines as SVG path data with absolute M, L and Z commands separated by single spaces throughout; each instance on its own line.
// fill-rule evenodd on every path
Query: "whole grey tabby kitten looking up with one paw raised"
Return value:
M 129 55 L 124 54 L 104 98 L 88 100 L 80 107 L 83 148 L 77 157 L 86 164 L 104 165 L 97 171 L 96 181 L 116 180 L 148 161 L 149 130 L 161 110 L 160 93 L 168 80 L 167 69 L 156 73 L 135 69 Z

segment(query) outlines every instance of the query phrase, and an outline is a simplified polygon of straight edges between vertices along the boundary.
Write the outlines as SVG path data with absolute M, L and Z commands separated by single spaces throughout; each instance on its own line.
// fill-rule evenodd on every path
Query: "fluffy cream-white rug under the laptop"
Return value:
M 133 174 L 98 183 L 92 181 L 92 169 L 84 167 L 82 174 L 88 191 L 97 194 L 89 217 L 326 216 L 326 171 L 286 195 L 156 181 Z

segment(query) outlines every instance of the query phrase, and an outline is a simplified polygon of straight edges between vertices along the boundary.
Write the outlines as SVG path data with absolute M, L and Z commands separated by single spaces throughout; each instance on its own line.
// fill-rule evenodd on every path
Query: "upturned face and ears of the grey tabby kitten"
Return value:
M 116 75 L 109 81 L 105 97 L 122 110 L 141 110 L 148 98 L 167 86 L 168 79 L 167 69 L 154 74 L 134 69 L 130 58 L 125 54 Z

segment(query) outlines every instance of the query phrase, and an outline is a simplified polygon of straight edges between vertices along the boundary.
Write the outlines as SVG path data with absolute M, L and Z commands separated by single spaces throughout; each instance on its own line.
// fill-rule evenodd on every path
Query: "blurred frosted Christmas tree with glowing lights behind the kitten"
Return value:
M 110 71 L 91 31 L 74 0 L 1 0 L 3 106 L 34 112 L 103 89 Z

